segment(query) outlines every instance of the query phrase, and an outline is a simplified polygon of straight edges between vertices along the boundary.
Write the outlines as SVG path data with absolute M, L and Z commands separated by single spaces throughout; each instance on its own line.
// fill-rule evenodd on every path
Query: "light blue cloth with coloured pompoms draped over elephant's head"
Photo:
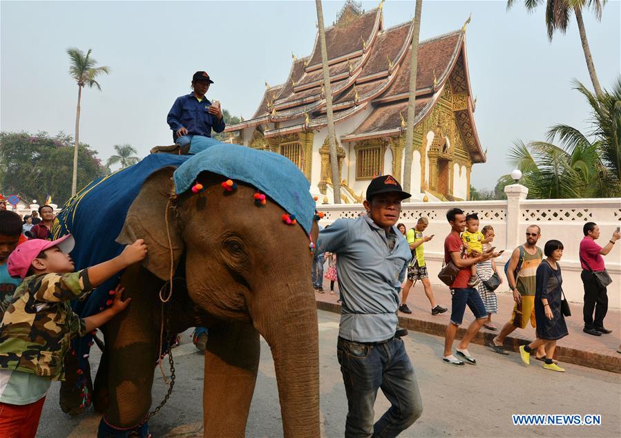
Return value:
M 291 160 L 268 151 L 222 143 L 213 138 L 192 140 L 199 151 L 175 171 L 177 193 L 188 190 L 202 171 L 209 171 L 251 184 L 296 220 L 310 234 L 315 217 L 315 201 L 310 184 Z M 191 151 L 191 150 L 190 150 Z

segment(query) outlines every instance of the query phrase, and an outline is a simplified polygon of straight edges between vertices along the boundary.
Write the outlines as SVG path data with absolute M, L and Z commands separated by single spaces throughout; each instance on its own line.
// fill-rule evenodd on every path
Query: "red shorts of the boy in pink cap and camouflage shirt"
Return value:
M 0 403 L 0 437 L 35 438 L 46 398 L 28 405 Z

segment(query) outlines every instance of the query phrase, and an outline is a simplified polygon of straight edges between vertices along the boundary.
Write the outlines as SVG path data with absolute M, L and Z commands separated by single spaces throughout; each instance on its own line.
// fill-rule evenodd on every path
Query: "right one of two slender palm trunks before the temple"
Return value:
M 412 158 L 414 155 L 414 110 L 416 108 L 416 73 L 419 62 L 419 35 L 421 31 L 421 10 L 423 0 L 416 0 L 414 8 L 414 32 L 412 35 L 412 62 L 410 64 L 410 97 L 408 99 L 408 128 L 405 131 L 405 157 L 403 169 L 403 190 L 410 193 L 412 180 Z

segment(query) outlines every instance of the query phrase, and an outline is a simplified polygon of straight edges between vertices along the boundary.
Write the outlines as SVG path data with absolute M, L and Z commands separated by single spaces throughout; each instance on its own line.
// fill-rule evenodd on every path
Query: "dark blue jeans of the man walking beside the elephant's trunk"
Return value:
M 397 437 L 421 416 L 419 385 L 400 338 L 359 343 L 339 336 L 336 355 L 347 394 L 345 437 Z M 392 406 L 374 424 L 380 388 Z

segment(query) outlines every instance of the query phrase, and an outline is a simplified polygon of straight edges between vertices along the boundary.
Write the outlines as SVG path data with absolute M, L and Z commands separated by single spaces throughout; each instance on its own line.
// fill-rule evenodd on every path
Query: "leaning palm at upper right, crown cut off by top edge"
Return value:
M 555 30 L 565 33 L 569 27 L 571 12 L 575 15 L 575 20 L 580 32 L 580 41 L 582 42 L 582 50 L 584 51 L 584 59 L 586 60 L 586 68 L 589 70 L 591 82 L 595 94 L 602 95 L 602 87 L 595 73 L 593 65 L 593 57 L 591 56 L 591 48 L 589 41 L 586 39 L 586 30 L 584 29 L 584 20 L 582 19 L 582 9 L 591 8 L 595 12 L 598 20 L 602 19 L 602 9 L 608 0 L 525 0 L 524 6 L 528 12 L 533 12 L 537 6 L 546 3 L 546 27 L 548 28 L 548 39 L 552 41 Z M 507 9 L 513 6 L 514 0 L 507 0 Z

